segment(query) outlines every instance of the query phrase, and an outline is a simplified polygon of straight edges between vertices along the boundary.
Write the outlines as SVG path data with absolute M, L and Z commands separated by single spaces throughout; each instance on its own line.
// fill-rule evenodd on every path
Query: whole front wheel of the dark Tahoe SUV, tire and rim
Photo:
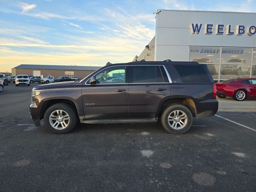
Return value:
M 44 114 L 44 125 L 55 134 L 65 134 L 76 126 L 76 112 L 72 106 L 58 103 L 50 106 Z

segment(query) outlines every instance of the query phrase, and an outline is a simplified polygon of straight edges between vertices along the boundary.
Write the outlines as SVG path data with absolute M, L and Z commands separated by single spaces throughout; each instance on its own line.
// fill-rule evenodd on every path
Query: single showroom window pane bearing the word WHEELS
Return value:
M 222 48 L 220 79 L 250 77 L 251 48 Z

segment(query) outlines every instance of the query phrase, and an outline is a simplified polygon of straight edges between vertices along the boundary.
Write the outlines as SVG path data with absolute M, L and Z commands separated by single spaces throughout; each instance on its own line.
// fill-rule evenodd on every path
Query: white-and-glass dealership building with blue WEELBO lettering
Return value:
M 205 63 L 217 81 L 256 78 L 256 13 L 158 10 L 142 59 Z

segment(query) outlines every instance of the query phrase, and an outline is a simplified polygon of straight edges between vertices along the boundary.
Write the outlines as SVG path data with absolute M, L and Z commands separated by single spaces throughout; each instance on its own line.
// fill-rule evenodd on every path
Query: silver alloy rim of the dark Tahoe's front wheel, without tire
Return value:
M 70 117 L 64 110 L 55 110 L 50 114 L 49 122 L 54 129 L 61 130 L 68 126 Z

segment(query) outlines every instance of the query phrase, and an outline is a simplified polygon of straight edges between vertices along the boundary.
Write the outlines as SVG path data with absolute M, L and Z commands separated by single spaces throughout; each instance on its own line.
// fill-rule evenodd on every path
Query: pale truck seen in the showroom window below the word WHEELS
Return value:
M 250 74 L 250 66 L 246 64 L 247 62 L 245 59 L 230 59 L 227 61 L 227 64 L 222 64 L 220 66 L 220 74 Z

